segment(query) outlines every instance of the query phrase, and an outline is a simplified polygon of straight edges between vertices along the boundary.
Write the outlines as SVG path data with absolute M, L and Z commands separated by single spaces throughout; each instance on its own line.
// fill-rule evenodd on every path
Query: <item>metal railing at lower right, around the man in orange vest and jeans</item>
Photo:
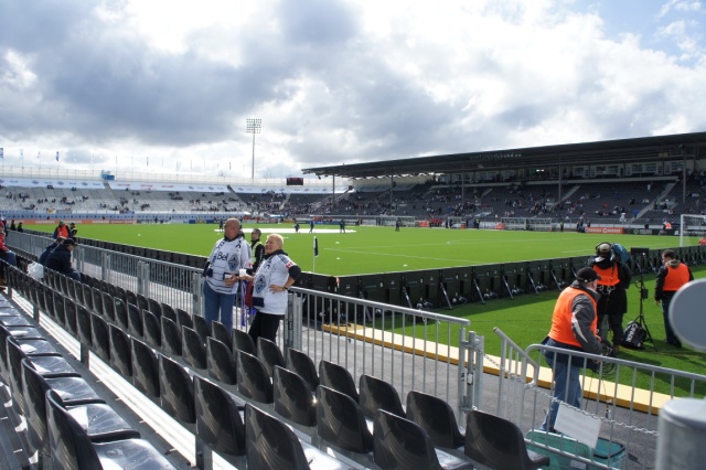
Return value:
M 580 383 L 584 391 L 584 416 L 600 420 L 600 437 L 603 447 L 624 446 L 624 455 L 606 460 L 598 452 L 570 438 L 547 438 L 547 434 L 536 432 L 549 408 L 554 385 L 552 371 L 542 351 L 560 352 L 567 350 L 533 344 L 522 350 L 501 330 L 501 356 L 495 365 L 500 368 L 496 402 L 489 403 L 486 409 L 514 421 L 527 432 L 527 444 L 538 449 L 557 452 L 555 459 L 573 461 L 580 468 L 653 468 L 659 439 L 657 421 L 662 406 L 673 398 L 703 397 L 706 391 L 706 375 L 676 371 L 621 359 L 596 356 L 570 352 L 570 356 L 586 362 L 600 360 L 596 372 L 584 368 Z M 494 362 L 485 356 L 486 361 Z M 664 386 L 660 386 L 663 384 Z M 657 388 L 665 392 L 657 392 Z M 573 408 L 565 403 L 560 406 Z M 556 448 L 560 441 L 563 449 Z

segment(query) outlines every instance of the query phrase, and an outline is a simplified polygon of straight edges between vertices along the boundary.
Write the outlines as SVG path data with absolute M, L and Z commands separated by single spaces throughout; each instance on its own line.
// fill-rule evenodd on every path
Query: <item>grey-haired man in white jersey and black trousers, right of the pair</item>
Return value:
M 263 337 L 275 341 L 279 321 L 287 310 L 287 289 L 296 282 L 301 268 L 282 249 L 281 235 L 271 234 L 265 242 L 265 259 L 255 276 L 246 276 L 255 282 L 253 307 L 257 310 L 248 334 L 255 340 Z

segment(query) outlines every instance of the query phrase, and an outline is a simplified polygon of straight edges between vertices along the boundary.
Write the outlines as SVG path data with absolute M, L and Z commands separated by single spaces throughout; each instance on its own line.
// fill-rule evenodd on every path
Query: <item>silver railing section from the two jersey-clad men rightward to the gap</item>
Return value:
M 474 334 L 467 333 L 470 320 L 309 289 L 291 291 L 290 308 L 301 312 L 293 324 L 301 332 L 292 334 L 293 344 L 284 345 L 304 351 L 314 364 L 341 364 L 356 381 L 362 374 L 382 378 L 395 386 L 403 403 L 411 389 L 443 398 L 457 418 L 480 395 L 481 381 L 472 377 L 482 376 L 482 366 L 470 354 L 470 344 L 478 348 Z

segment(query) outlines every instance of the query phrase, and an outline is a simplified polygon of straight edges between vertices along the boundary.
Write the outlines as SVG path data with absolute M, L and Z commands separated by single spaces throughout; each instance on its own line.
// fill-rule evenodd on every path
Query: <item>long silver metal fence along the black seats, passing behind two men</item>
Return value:
M 39 256 L 51 238 L 12 233 L 12 247 Z M 201 269 L 87 245 L 73 252 L 76 268 L 96 279 L 173 308 L 202 314 Z M 480 396 L 469 354 L 470 321 L 406 307 L 317 290 L 291 288 L 278 341 L 306 352 L 315 364 L 345 366 L 357 380 L 374 375 L 393 384 L 403 400 L 416 389 L 443 398 L 457 417 Z M 233 324 L 246 329 L 247 309 L 236 300 Z M 467 338 L 468 337 L 468 338 Z M 473 384 L 473 385 L 470 385 Z

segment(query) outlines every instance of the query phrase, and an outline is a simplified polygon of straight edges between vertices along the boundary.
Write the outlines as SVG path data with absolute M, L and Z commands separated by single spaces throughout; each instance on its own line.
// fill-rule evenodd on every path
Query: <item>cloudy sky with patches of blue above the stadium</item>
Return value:
M 0 18 L 3 165 L 249 178 L 247 118 L 264 178 L 706 128 L 696 0 L 0 0 Z

